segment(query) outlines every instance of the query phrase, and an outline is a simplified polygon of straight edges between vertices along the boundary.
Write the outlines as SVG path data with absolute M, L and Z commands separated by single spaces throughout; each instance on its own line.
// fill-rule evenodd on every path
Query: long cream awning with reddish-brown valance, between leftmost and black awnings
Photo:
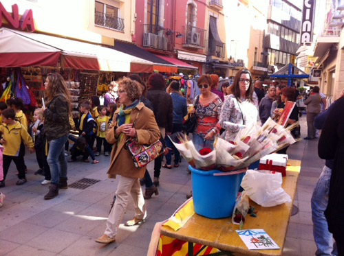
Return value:
M 153 63 L 136 58 L 111 48 L 83 43 L 76 40 L 47 36 L 30 32 L 16 32 L 36 42 L 44 43 L 61 50 L 62 67 L 102 71 L 130 72 L 131 63 L 150 65 Z

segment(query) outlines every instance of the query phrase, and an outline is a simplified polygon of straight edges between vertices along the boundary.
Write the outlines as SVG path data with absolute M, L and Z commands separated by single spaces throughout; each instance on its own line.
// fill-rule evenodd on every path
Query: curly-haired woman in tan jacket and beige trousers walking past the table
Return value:
M 131 154 L 124 147 L 125 141 L 129 137 L 135 137 L 140 144 L 151 144 L 160 138 L 153 111 L 140 102 L 142 93 L 140 84 L 130 78 L 123 78 L 118 82 L 117 93 L 122 105 L 114 113 L 116 118 L 109 127 L 106 139 L 107 142 L 114 144 L 107 174 L 109 178 L 116 178 L 118 175 L 119 182 L 116 201 L 107 219 L 105 233 L 96 239 L 96 242 L 102 244 L 115 242 L 129 195 L 133 198 L 136 214 L 126 225 L 133 226 L 144 221 L 147 214 L 139 181 L 139 178 L 143 178 L 146 167 L 135 167 Z

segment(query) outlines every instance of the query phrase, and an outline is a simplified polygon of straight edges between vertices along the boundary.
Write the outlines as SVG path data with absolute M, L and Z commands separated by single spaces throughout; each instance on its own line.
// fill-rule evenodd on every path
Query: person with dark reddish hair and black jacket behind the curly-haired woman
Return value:
M 164 90 L 165 80 L 160 73 L 153 73 L 148 79 L 147 99 L 153 104 L 155 120 L 163 137 L 170 135 L 173 127 L 173 103 L 172 97 Z M 154 160 L 154 180 L 155 186 L 159 185 L 159 176 L 162 157 Z

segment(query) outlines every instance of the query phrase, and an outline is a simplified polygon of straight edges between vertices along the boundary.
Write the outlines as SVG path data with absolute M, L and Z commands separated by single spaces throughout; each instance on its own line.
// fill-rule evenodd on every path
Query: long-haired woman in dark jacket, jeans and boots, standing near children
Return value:
M 58 73 L 49 73 L 44 83 L 47 95 L 47 108 L 44 110 L 45 137 L 49 143 L 47 163 L 51 172 L 49 192 L 44 199 L 58 195 L 58 188 L 67 188 L 67 159 L 65 143 L 70 130 L 70 95 L 63 77 Z

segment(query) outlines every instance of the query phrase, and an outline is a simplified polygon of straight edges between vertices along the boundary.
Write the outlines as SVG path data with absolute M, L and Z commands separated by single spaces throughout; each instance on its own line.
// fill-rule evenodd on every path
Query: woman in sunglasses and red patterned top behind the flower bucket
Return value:
M 219 114 L 222 100 L 211 92 L 211 76 L 201 75 L 197 81 L 201 94 L 195 97 L 191 113 L 197 116 L 197 126 L 193 132 L 193 144 L 197 150 L 213 149 L 215 135 L 219 133 Z

